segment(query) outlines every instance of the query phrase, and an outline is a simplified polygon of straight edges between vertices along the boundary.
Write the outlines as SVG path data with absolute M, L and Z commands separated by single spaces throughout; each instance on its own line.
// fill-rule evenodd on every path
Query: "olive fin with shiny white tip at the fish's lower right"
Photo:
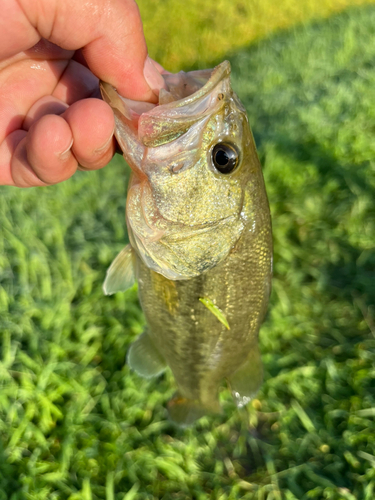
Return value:
M 263 365 L 259 348 L 255 346 L 245 363 L 228 379 L 233 397 L 239 408 L 254 398 L 263 380 Z

